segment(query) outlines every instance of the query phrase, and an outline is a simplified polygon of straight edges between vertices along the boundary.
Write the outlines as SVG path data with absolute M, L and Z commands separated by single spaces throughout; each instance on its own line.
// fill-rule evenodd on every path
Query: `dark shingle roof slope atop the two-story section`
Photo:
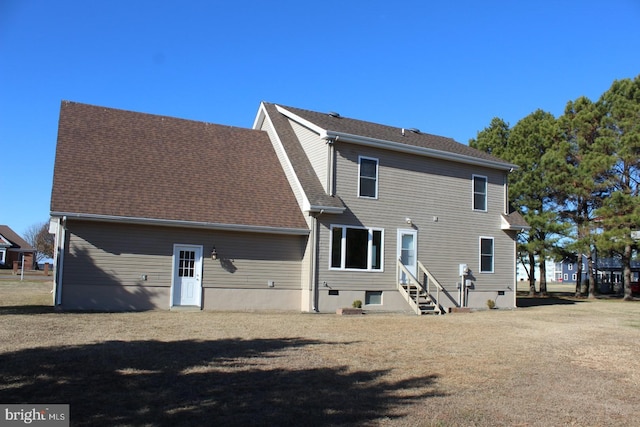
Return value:
M 317 125 L 318 127 L 334 132 L 351 135 L 358 135 L 372 139 L 396 142 L 415 147 L 428 148 L 442 153 L 449 153 L 458 156 L 466 156 L 480 161 L 502 164 L 504 168 L 514 165 L 498 159 L 495 156 L 483 151 L 476 150 L 468 145 L 461 144 L 452 138 L 431 135 L 423 132 L 412 132 L 410 129 L 382 125 L 378 123 L 366 122 L 363 120 L 350 119 L 347 117 L 334 117 L 328 113 L 318 113 L 301 108 L 281 106 L 295 115 Z

